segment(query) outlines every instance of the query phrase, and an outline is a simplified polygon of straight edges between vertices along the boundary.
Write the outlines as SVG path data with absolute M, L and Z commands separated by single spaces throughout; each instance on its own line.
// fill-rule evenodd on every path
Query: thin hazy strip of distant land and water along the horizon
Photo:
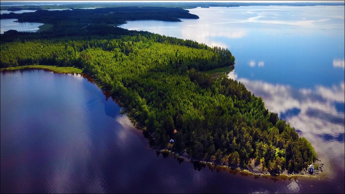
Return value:
M 54 2 L 58 3 L 58 2 Z M 9 4 L 25 4 L 25 6 L 6 6 Z M 9 8 L 38 8 L 38 9 L 70 9 L 70 8 L 106 8 L 106 7 L 171 7 L 191 9 L 196 7 L 239 7 L 239 6 L 344 6 L 343 2 L 295 2 L 295 3 L 253 3 L 253 2 L 62 2 L 61 5 L 41 5 L 42 2 L 1 2 L 1 10 L 8 10 Z M 60 3 L 59 3 L 60 4 Z

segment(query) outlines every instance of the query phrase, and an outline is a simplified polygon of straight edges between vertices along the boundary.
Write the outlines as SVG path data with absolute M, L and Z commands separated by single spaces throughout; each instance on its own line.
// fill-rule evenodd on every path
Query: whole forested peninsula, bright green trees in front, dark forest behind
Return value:
M 140 15 L 139 8 L 121 9 L 126 10 L 122 18 L 116 18 L 121 14 L 111 16 L 114 13 L 107 8 L 82 16 L 75 13 L 85 10 L 76 9 L 3 14 L 1 19 L 45 22 L 53 30 L 51 36 L 44 31 L 1 34 L 1 68 L 82 69 L 152 135 L 156 147 L 193 159 L 233 168 L 255 163 L 271 173 L 300 172 L 316 161 L 312 145 L 277 113 L 268 111 L 262 98 L 225 75 L 203 73 L 234 65 L 235 57 L 228 49 L 109 25 Z M 151 9 L 141 10 L 145 17 L 137 19 L 178 18 L 183 10 L 167 13 L 163 9 L 161 13 L 167 15 L 157 13 L 152 18 L 149 13 L 158 9 Z M 85 21 L 85 28 L 73 22 L 78 18 Z

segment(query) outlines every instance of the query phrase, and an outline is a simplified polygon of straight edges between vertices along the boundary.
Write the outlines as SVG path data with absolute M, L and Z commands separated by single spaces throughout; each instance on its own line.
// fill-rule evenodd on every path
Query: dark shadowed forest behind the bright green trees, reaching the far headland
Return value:
M 179 18 L 198 19 L 199 17 L 182 8 L 121 7 L 62 11 L 37 10 L 30 13 L 1 14 L 0 18 L 14 18 L 18 19 L 18 22 L 40 22 L 52 26 L 50 30 L 40 33 L 9 30 L 0 35 L 0 41 L 3 43 L 14 40 L 80 37 L 84 35 L 106 35 L 114 38 L 114 35 L 131 35 L 131 31 L 114 27 L 126 23 L 126 20 L 181 21 Z

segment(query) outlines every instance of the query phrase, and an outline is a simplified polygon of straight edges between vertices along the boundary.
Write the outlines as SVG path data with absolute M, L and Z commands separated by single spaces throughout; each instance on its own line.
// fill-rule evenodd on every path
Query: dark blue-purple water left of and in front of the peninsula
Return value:
M 157 154 L 119 106 L 80 75 L 25 70 L 1 72 L 0 79 L 1 193 L 344 191 L 341 169 L 284 180 Z

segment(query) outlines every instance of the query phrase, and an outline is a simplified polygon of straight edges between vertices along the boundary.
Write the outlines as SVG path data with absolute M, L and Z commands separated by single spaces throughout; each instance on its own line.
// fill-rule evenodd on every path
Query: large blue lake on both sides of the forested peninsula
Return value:
M 81 75 L 1 71 L 1 193 L 344 193 L 344 6 L 190 12 L 200 19 L 121 27 L 229 48 L 229 76 L 313 144 L 323 176 L 258 177 L 157 154 Z

